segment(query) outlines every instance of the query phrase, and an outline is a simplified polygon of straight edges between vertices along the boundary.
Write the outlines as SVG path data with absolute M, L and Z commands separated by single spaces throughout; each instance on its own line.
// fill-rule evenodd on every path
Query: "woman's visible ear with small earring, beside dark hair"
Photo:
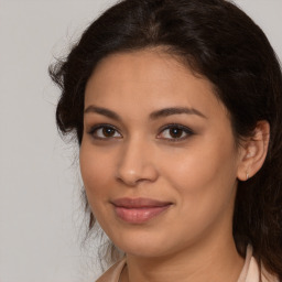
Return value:
M 240 148 L 237 177 L 247 181 L 262 166 L 269 148 L 270 126 L 265 120 L 257 123 L 253 135 L 246 139 Z

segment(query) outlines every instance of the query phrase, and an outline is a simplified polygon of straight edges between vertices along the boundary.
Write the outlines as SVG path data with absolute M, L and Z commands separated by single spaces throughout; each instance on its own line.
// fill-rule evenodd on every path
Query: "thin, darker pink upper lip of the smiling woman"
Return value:
M 171 205 L 171 202 L 162 202 L 152 198 L 117 198 L 111 202 L 117 207 L 124 208 L 144 208 L 144 207 L 162 207 Z

